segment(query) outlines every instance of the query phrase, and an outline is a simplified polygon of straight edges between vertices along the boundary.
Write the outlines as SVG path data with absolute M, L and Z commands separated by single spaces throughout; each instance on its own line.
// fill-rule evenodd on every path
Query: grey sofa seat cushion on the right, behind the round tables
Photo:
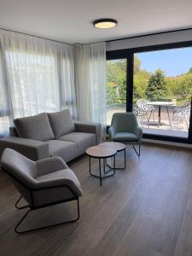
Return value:
M 96 145 L 96 134 L 85 132 L 70 132 L 59 137 L 58 140 L 76 143 L 78 145 L 79 154 L 84 154 L 87 148 Z

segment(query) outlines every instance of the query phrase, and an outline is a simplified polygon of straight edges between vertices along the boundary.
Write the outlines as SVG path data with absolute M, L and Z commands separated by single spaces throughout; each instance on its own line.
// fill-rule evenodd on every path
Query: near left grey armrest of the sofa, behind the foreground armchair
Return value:
M 12 148 L 31 160 L 49 157 L 49 144 L 22 137 L 4 137 L 0 139 L 0 157 L 4 148 Z

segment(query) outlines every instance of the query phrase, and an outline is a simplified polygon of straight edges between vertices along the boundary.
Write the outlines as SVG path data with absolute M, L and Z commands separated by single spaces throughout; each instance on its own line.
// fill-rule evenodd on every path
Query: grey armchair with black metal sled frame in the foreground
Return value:
M 41 230 L 50 226 L 71 223 L 79 219 L 79 196 L 82 195 L 81 186 L 73 171 L 67 167 L 60 157 L 52 157 L 35 162 L 13 149 L 6 148 L 1 159 L 1 169 L 13 178 L 15 187 L 20 191 L 20 199 L 23 197 L 28 203 L 25 207 L 18 207 L 19 199 L 15 207 L 17 209 L 29 207 L 28 211 L 15 226 L 16 233 Z M 18 230 L 21 222 L 32 210 L 67 201 L 77 201 L 77 218 L 32 230 Z

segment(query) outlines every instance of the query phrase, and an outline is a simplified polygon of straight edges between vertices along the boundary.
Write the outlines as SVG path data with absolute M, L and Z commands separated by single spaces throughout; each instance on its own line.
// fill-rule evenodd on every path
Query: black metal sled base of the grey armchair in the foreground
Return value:
M 19 199 L 20 201 L 20 199 Z M 17 201 L 17 203 L 19 202 Z M 76 199 L 77 201 L 77 207 L 78 207 L 78 216 L 77 218 L 74 218 L 72 220 L 68 220 L 68 221 L 64 221 L 64 222 L 61 222 L 61 223 L 57 223 L 57 224 L 50 224 L 50 225 L 46 225 L 46 226 L 43 226 L 43 227 L 39 227 L 39 228 L 36 228 L 36 229 L 31 229 L 31 230 L 18 230 L 19 227 L 20 227 L 20 224 L 24 221 L 24 219 L 26 218 L 26 216 L 28 215 L 29 212 L 32 212 L 32 211 L 35 211 L 35 210 L 38 210 L 42 207 L 38 207 L 37 209 L 29 209 L 24 215 L 22 218 L 20 218 L 20 221 L 18 222 L 18 224 L 16 224 L 15 226 L 15 232 L 18 233 L 18 234 L 23 234 L 23 233 L 26 233 L 26 232 L 32 232 L 32 231 L 37 231 L 37 230 L 44 230 L 44 229 L 48 229 L 48 228 L 51 228 L 51 227 L 55 227 L 55 226 L 58 226 L 58 225 L 61 225 L 61 224 L 69 224 L 69 223 L 73 223 L 77 220 L 79 220 L 79 217 L 80 217 L 80 212 L 79 212 L 79 198 Z M 16 204 L 17 204 L 16 203 Z

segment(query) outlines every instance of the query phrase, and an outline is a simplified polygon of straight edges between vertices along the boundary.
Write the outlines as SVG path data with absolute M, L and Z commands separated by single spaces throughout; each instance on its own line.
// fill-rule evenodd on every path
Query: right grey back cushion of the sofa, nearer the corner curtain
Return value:
M 68 109 L 61 112 L 48 113 L 49 122 L 55 134 L 55 138 L 68 132 L 75 131 L 75 125 Z

